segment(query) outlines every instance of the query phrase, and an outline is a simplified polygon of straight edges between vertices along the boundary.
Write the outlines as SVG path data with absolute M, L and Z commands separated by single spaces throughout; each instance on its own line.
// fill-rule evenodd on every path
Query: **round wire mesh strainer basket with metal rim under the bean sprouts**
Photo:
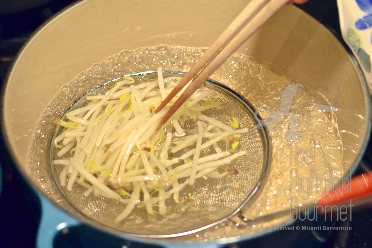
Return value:
M 164 77 L 175 74 L 182 76 L 185 73 L 163 71 Z M 126 76 L 133 77 L 134 84 L 141 84 L 157 79 L 157 72 L 150 71 Z M 87 102 L 86 96 L 102 93 L 119 80 L 120 78 L 117 78 L 101 84 L 81 96 L 66 110 L 61 119 L 65 119 L 66 113 L 85 104 Z M 60 186 L 59 175 L 63 167 L 52 163 L 57 151 L 55 146 L 51 144 L 60 132 L 56 129 L 51 137 L 51 142 L 49 142 L 48 156 L 49 164 L 52 165 L 53 178 L 61 193 L 75 207 L 76 211 L 83 215 L 110 228 L 137 236 L 164 238 L 186 235 L 231 218 L 240 210 L 241 206 L 247 204 L 248 200 L 257 194 L 260 184 L 263 183 L 270 161 L 269 136 L 266 129 L 259 129 L 257 133 L 255 128 L 257 122 L 253 118 L 255 110 L 242 96 L 213 80 L 206 81 L 200 90 L 206 88 L 215 90 L 214 97 L 221 100 L 223 108 L 222 110 L 205 110 L 203 111 L 204 115 L 213 117 L 226 125 L 229 125 L 228 118 L 233 115 L 242 128 L 250 130 L 241 135 L 237 147 L 237 151 L 247 150 L 248 154 L 218 169 L 222 172 L 234 168 L 239 171 L 239 174 L 222 179 L 199 178 L 193 186 L 187 185 L 179 192 L 180 199 L 189 194 L 195 195 L 192 201 L 176 203 L 169 198 L 166 200 L 167 213 L 163 216 L 151 216 L 148 215 L 145 208 L 135 208 L 126 219 L 116 223 L 114 219 L 123 211 L 124 203 L 92 194 L 84 197 L 83 193 L 86 189 L 77 183 L 72 191 Z M 206 148 L 202 150 L 200 157 L 212 153 L 214 151 Z

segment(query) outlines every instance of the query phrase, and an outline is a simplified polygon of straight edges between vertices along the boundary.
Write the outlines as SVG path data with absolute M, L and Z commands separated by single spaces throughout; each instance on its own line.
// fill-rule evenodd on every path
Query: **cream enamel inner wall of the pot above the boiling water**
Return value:
M 63 84 L 95 62 L 123 49 L 158 44 L 209 46 L 245 4 L 227 4 L 220 0 L 85 0 L 42 26 L 20 51 L 7 77 L 2 98 L 4 137 L 26 180 L 39 194 L 47 195 L 29 173 L 26 155 L 42 111 Z M 333 91 L 339 87 L 337 119 L 344 144 L 343 166 L 350 168 L 358 164 L 369 138 L 370 97 L 355 59 L 328 29 L 296 7 L 286 6 L 238 52 L 263 57 L 287 68 L 285 73 L 289 77 L 306 82 L 312 89 L 320 84 Z M 51 201 L 73 215 L 71 222 L 76 223 L 78 219 L 104 232 L 135 239 L 99 225 L 65 202 Z M 50 205 L 44 198 L 42 202 L 45 207 Z M 68 215 L 52 216 L 49 218 L 56 219 L 57 223 L 67 223 L 69 218 Z M 42 235 L 50 228 L 42 228 Z M 265 231 L 259 233 L 266 234 Z M 250 238 L 219 239 L 211 245 Z M 166 246 L 185 244 L 173 239 L 140 241 Z M 42 244 L 40 241 L 39 245 Z

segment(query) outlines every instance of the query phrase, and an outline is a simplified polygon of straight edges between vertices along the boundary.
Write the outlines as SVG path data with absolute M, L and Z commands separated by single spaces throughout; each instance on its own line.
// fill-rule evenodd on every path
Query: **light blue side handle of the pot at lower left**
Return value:
M 39 194 L 41 202 L 41 220 L 36 236 L 36 248 L 53 248 L 55 235 L 68 227 L 78 225 L 80 222 L 58 209 L 42 194 Z

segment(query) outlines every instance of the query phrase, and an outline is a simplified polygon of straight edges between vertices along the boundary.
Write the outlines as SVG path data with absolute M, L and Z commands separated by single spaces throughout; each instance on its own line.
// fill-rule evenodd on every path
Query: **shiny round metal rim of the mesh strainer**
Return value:
M 162 71 L 162 73 L 163 73 L 163 75 L 164 74 L 186 75 L 186 73 L 185 72 L 182 72 L 182 71 Z M 157 71 L 145 71 L 145 72 L 140 72 L 140 73 L 126 74 L 126 75 L 123 75 L 122 77 L 118 77 L 118 78 L 115 78 L 115 79 L 106 81 L 105 83 L 102 83 L 102 84 L 100 84 L 98 86 L 95 86 L 95 87 L 91 88 L 90 90 L 86 91 L 86 93 L 82 94 L 76 100 L 74 100 L 74 102 L 61 115 L 61 119 L 63 119 L 64 116 L 66 115 L 66 113 L 68 112 L 68 110 L 70 110 L 71 107 L 73 107 L 77 102 L 79 102 L 84 96 L 87 96 L 87 95 L 93 93 L 98 88 L 102 88 L 102 87 L 104 87 L 104 86 L 106 86 L 106 85 L 108 85 L 110 83 L 113 83 L 115 81 L 118 81 L 118 80 L 120 80 L 123 77 L 140 77 L 140 76 L 145 76 L 145 75 L 156 75 L 156 74 L 157 74 Z M 205 81 L 204 86 L 206 86 L 208 88 L 211 88 L 213 90 L 216 90 L 219 93 L 224 94 L 225 96 L 227 96 L 230 99 L 232 99 L 240 107 L 242 107 L 244 110 L 246 110 L 247 114 L 251 117 L 251 119 L 253 120 L 253 122 L 255 124 L 258 123 L 257 120 L 254 118 L 254 111 L 255 111 L 254 107 L 243 96 L 241 96 L 241 94 L 239 94 L 236 91 L 232 90 L 230 87 L 227 87 L 224 84 L 221 84 L 221 83 L 219 83 L 219 82 L 217 82 L 215 80 L 212 80 L 210 78 L 208 78 Z M 257 116 L 259 117 L 259 119 L 262 119 L 259 116 L 259 114 Z M 53 133 L 55 132 L 55 130 L 56 129 L 54 129 Z M 262 140 L 262 144 L 263 144 L 263 169 L 262 169 L 262 171 L 261 171 L 261 173 L 259 175 L 259 178 L 257 180 L 256 185 L 251 189 L 251 191 L 249 193 L 249 196 L 240 204 L 240 206 L 237 209 L 235 209 L 232 213 L 226 215 L 224 218 L 222 218 L 220 220 L 217 220 L 217 221 L 215 221 L 213 223 L 210 223 L 208 225 L 202 226 L 200 228 L 193 229 L 193 230 L 186 231 L 186 232 L 173 233 L 173 234 L 165 234 L 165 235 L 150 235 L 150 234 L 130 233 L 130 232 L 124 232 L 124 231 L 121 231 L 121 230 L 112 228 L 109 225 L 105 225 L 104 223 L 102 223 L 102 222 L 100 222 L 98 220 L 95 220 L 93 218 L 89 218 L 89 216 L 86 216 L 86 214 L 84 214 L 78 207 L 76 207 L 73 203 L 70 202 L 69 197 L 67 197 L 65 195 L 64 190 L 62 190 L 62 188 L 60 186 L 60 183 L 58 183 L 58 180 L 57 180 L 58 175 L 56 175 L 55 174 L 55 170 L 53 170 L 51 168 L 52 167 L 51 166 L 51 159 L 52 158 L 50 156 L 50 151 L 51 151 L 51 144 L 53 142 L 52 141 L 52 137 L 54 136 L 53 134 L 51 134 L 51 137 L 49 138 L 49 142 L 48 142 L 48 145 L 47 145 L 47 165 L 48 165 L 48 172 L 49 172 L 49 174 L 51 174 L 50 176 L 54 179 L 54 182 L 53 183 L 59 189 L 62 197 L 64 197 L 64 200 L 66 202 L 68 202 L 68 204 L 74 210 L 76 210 L 76 212 L 79 213 L 79 216 L 82 215 L 85 218 L 89 219 L 90 220 L 89 221 L 90 224 L 93 225 L 94 227 L 97 227 L 96 225 L 94 225 L 95 223 L 97 223 L 100 227 L 102 227 L 102 225 L 103 225 L 103 226 L 105 226 L 105 228 L 108 228 L 110 231 L 115 231 L 115 232 L 121 233 L 121 235 L 122 234 L 127 234 L 127 235 L 131 235 L 131 236 L 138 237 L 138 238 L 174 238 L 174 237 L 179 237 L 179 236 L 185 236 L 185 235 L 188 235 L 188 234 L 192 234 L 192 233 L 195 233 L 195 232 L 199 232 L 199 231 L 205 230 L 205 229 L 210 228 L 212 226 L 218 225 L 219 223 L 225 222 L 226 220 L 228 220 L 228 219 L 232 218 L 233 216 L 237 215 L 244 206 L 247 206 L 249 204 L 248 202 L 253 203 L 254 200 L 257 198 L 257 196 L 259 195 L 260 190 L 262 189 L 262 186 L 264 185 L 264 183 L 267 180 L 267 175 L 269 173 L 269 168 L 270 168 L 270 164 L 271 164 L 271 139 L 270 139 L 269 131 L 266 128 L 266 126 L 264 126 L 264 127 L 262 127 L 262 129 L 258 129 L 258 132 L 259 133 L 257 135 L 260 135 L 261 140 Z M 61 206 L 59 206 L 59 207 L 62 208 Z M 77 218 L 81 222 L 86 223 L 86 220 L 83 220 L 81 218 L 78 218 L 75 213 L 71 213 L 70 211 L 68 211 L 68 213 L 70 213 L 71 215 L 73 215 L 74 218 Z M 91 223 L 91 222 L 93 222 L 93 223 Z

